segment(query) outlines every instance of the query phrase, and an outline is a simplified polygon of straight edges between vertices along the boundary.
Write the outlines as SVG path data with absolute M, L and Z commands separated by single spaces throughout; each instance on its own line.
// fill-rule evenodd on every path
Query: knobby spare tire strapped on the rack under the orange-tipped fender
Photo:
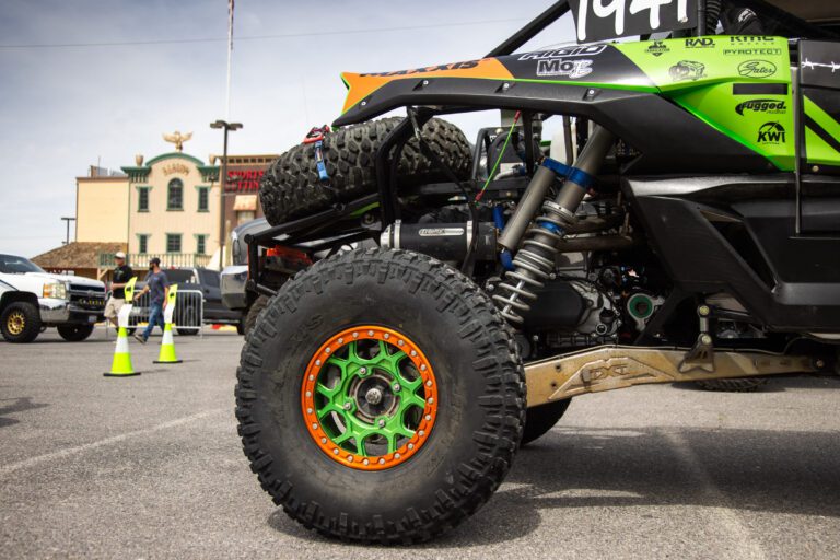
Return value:
M 312 214 L 336 201 L 350 201 L 376 190 L 374 156 L 385 137 L 402 120 L 384 118 L 339 129 L 324 138 L 324 162 L 328 188 L 318 180 L 313 144 L 301 144 L 282 154 L 266 171 L 259 199 L 268 223 Z M 459 179 L 469 177 L 469 142 L 455 125 L 433 118 L 423 127 L 423 139 Z M 447 176 L 411 139 L 402 150 L 397 168 L 400 185 L 448 180 Z

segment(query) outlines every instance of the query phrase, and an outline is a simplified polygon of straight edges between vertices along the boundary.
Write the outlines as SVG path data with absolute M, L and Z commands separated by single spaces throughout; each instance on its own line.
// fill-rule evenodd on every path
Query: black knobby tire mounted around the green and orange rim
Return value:
M 438 385 L 422 446 L 384 470 L 332 459 L 302 409 L 318 348 L 365 324 L 412 338 Z M 525 415 L 516 352 L 490 299 L 438 260 L 382 249 L 326 258 L 284 284 L 246 339 L 235 389 L 245 455 L 275 503 L 307 528 L 363 542 L 428 540 L 477 511 L 511 467 Z

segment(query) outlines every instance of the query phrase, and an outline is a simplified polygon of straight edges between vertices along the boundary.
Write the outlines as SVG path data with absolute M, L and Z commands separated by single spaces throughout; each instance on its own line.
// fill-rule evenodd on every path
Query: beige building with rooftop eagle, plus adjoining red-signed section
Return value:
M 164 267 L 220 268 L 221 156 L 211 163 L 180 151 L 190 135 L 165 135 L 176 151 L 114 173 L 91 167 L 77 177 L 75 242 L 119 243 L 128 247 L 129 264 L 142 267 L 159 257 Z M 262 215 L 257 192 L 266 167 L 275 154 L 229 155 L 224 192 L 224 232 Z M 225 254 L 230 256 L 225 243 Z M 229 259 L 225 259 L 226 264 Z M 97 276 L 114 267 L 113 255 L 100 256 Z

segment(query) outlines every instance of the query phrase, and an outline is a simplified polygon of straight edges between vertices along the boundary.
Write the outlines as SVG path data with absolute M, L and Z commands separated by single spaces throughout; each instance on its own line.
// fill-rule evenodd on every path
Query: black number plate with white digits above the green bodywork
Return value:
M 569 0 L 578 43 L 697 26 L 697 0 Z

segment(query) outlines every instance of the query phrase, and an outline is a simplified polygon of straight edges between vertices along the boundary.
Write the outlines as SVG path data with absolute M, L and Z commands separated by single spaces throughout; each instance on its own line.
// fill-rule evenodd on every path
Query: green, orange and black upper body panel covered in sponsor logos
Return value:
M 393 108 L 388 94 L 377 92 L 404 80 L 411 85 L 422 79 L 503 80 L 653 93 L 766 158 L 768 171 L 790 172 L 795 163 L 790 57 L 785 37 L 712 35 L 572 45 L 396 72 L 343 73 L 350 90 L 345 114 L 360 110 L 370 100 L 383 103 L 378 95 L 385 97 L 384 109 Z M 804 110 L 840 140 L 840 125 L 831 116 L 809 100 L 804 100 Z M 808 163 L 840 165 L 840 152 L 808 129 L 804 137 Z

